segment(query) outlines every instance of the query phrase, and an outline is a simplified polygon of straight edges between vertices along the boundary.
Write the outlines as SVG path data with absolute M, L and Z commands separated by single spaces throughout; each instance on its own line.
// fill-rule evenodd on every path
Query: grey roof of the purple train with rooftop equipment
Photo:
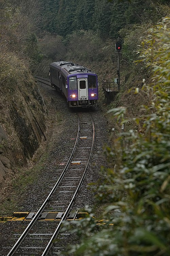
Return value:
M 95 74 L 86 67 L 80 66 L 79 64 L 74 64 L 73 62 L 68 61 L 58 61 L 50 63 L 51 67 L 57 67 L 59 70 L 64 70 L 68 75 L 79 74 L 79 73 L 91 73 Z

